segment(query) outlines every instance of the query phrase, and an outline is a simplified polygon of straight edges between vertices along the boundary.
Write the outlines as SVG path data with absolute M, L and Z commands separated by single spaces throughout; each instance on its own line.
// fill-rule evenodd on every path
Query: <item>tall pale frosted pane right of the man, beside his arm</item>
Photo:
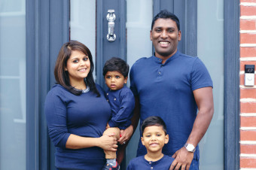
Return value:
M 215 114 L 200 141 L 200 168 L 224 168 L 224 0 L 198 0 L 197 52 L 213 81 Z M 214 25 L 214 27 L 212 27 Z M 218 65 L 216 67 L 216 65 Z

